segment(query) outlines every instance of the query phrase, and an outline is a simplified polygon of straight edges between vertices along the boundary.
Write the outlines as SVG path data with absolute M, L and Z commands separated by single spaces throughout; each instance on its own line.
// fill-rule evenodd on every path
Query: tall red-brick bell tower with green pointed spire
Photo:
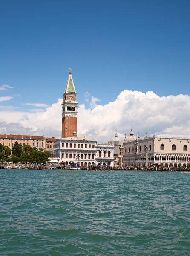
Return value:
M 62 103 L 62 138 L 72 137 L 77 133 L 77 100 L 75 85 L 72 80 L 71 69 L 69 68 L 69 77 L 63 94 Z

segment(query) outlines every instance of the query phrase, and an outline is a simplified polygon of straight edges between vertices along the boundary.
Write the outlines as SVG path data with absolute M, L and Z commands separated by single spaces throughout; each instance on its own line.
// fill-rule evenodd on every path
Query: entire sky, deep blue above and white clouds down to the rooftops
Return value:
M 60 137 L 69 68 L 78 136 L 190 134 L 190 1 L 0 1 L 0 134 Z

